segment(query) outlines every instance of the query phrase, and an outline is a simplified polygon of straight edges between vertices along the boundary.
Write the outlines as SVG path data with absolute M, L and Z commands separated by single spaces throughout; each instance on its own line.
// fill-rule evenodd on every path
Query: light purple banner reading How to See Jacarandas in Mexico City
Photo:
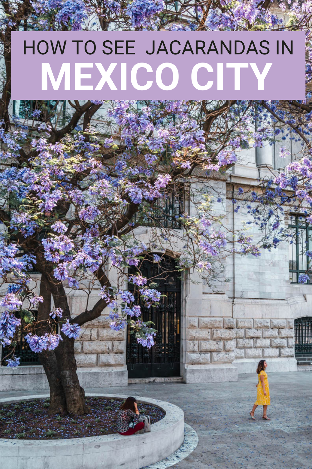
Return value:
M 12 33 L 13 99 L 304 99 L 304 32 Z

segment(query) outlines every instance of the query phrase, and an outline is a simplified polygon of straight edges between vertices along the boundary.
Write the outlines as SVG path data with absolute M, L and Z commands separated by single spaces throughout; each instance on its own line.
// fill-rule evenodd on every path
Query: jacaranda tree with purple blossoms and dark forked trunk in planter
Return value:
M 281 138 L 292 129 L 293 138 L 300 140 L 300 161 L 292 163 L 287 174 L 261 182 L 251 194 L 239 189 L 232 200 L 235 211 L 240 200 L 247 204 L 254 223 L 265 231 L 261 246 L 268 249 L 285 236 L 280 225 L 283 206 L 295 201 L 295 209 L 301 204 L 310 216 L 311 2 L 289 3 L 287 9 L 280 6 L 288 15 L 285 24 L 272 13 L 270 1 L 1 2 L 0 278 L 6 293 L 0 302 L 0 344 L 7 350 L 4 364 L 18 366 L 15 336 L 21 321 L 25 323 L 25 340 L 40 354 L 49 381 L 51 412 L 87 412 L 74 340 L 80 327 L 106 307 L 113 329 L 128 324 L 142 346 L 153 345 L 156 331 L 142 320 L 138 298 L 153 307 L 160 293 L 157 279 L 151 284 L 141 275 L 145 256 L 157 251 L 153 261 L 159 263 L 180 236 L 183 253 L 177 268 L 195 268 L 209 276 L 214 274 L 214 259 L 233 253 L 260 255 L 260 245 L 247 231 L 226 230 L 209 192 L 203 190 L 198 197 L 192 183 L 225 173 L 240 150 L 269 144 L 277 133 L 274 123 Z M 148 100 L 139 106 L 135 101 L 68 100 L 65 121 L 58 101 L 33 102 L 27 120 L 10 113 L 11 31 L 96 28 L 305 30 L 307 98 Z M 281 156 L 286 153 L 281 150 Z M 178 235 L 173 227 L 158 227 L 154 220 L 167 197 L 180 190 L 188 191 L 196 210 L 192 217 L 182 211 L 177 215 L 183 228 Z M 136 231 L 144 224 L 149 226 L 145 242 Z M 33 269 L 41 273 L 38 285 Z M 94 284 L 101 291 L 97 303 L 72 317 L 69 289 L 90 290 Z

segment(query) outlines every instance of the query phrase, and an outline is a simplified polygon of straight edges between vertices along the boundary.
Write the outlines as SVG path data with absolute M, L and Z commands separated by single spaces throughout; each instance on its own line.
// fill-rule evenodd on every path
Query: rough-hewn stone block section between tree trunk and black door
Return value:
M 108 316 L 100 316 L 81 328 L 75 340 L 75 357 L 80 367 L 122 367 L 126 363 L 125 331 L 113 331 Z

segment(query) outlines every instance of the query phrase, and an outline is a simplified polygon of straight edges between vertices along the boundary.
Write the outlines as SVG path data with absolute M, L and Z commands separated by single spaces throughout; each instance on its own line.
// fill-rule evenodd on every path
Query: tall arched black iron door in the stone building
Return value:
M 134 334 L 127 334 L 127 368 L 129 378 L 149 378 L 151 376 L 180 376 L 180 319 L 181 319 L 181 280 L 175 270 L 174 260 L 164 257 L 161 266 L 144 260 L 140 267 L 142 275 L 152 279 L 157 289 L 166 295 L 157 308 L 146 308 L 142 304 L 142 318 L 152 321 L 158 332 L 155 345 L 148 349 L 137 343 Z M 136 269 L 133 269 L 133 273 Z M 131 286 L 129 285 L 129 289 Z

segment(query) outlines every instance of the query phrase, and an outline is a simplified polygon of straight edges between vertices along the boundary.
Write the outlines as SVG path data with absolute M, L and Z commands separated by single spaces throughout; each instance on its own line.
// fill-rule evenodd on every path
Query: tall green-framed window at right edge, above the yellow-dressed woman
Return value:
M 288 227 L 291 235 L 290 281 L 298 283 L 300 273 L 312 274 L 312 259 L 306 255 L 307 251 L 312 251 L 312 225 L 305 223 L 304 217 L 291 215 Z M 312 283 L 312 275 L 307 283 Z

